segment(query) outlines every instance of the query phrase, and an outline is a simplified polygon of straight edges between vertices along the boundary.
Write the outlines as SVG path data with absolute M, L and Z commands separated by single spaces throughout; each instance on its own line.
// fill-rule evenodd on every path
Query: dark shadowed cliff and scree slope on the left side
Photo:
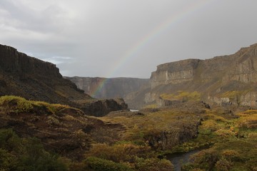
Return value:
M 91 98 L 63 78 L 53 63 L 20 53 L 10 46 L 0 45 L 0 95 L 19 95 L 30 100 L 61 103 L 83 108 L 89 115 L 106 115 L 111 110 L 126 109 L 121 100 L 106 103 Z M 96 104 L 94 104 L 96 103 Z M 99 105 L 98 105 L 99 104 Z M 86 106 L 98 106 L 101 114 Z

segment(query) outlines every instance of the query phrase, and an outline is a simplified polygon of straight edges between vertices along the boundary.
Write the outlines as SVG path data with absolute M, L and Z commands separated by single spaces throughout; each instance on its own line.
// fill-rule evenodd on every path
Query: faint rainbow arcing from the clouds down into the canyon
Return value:
M 168 31 L 172 28 L 172 26 L 178 24 L 179 22 L 183 21 L 183 19 L 186 19 L 186 17 L 190 16 L 191 14 L 197 12 L 200 9 L 203 9 L 203 7 L 211 4 L 211 2 L 214 0 L 198 0 L 195 1 L 192 4 L 188 4 L 183 10 L 178 11 L 176 14 L 170 16 L 168 19 L 163 21 L 160 25 L 153 28 L 153 30 L 146 33 L 144 36 L 142 36 L 134 45 L 129 48 L 125 53 L 124 56 L 122 56 L 119 61 L 117 61 L 114 64 L 114 68 L 109 71 L 107 76 L 109 78 L 114 75 L 119 69 L 124 66 L 129 60 L 132 60 L 136 57 L 136 54 L 140 52 L 143 48 L 148 46 L 149 43 L 154 41 L 155 38 L 160 36 L 165 31 Z M 91 93 L 91 95 L 94 97 L 97 93 L 101 92 L 101 89 L 106 84 L 106 81 L 108 79 L 104 79 L 103 81 L 99 82 L 98 85 L 94 88 Z

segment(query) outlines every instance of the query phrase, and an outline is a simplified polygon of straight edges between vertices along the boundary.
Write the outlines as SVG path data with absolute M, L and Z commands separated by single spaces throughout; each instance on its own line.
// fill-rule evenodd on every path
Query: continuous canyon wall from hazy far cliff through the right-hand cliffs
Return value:
M 129 108 L 135 109 L 180 103 L 192 93 L 197 93 L 198 98 L 191 100 L 203 100 L 209 105 L 256 108 L 257 44 L 232 55 L 163 63 L 151 73 L 150 79 L 68 79 L 89 95 L 124 98 Z

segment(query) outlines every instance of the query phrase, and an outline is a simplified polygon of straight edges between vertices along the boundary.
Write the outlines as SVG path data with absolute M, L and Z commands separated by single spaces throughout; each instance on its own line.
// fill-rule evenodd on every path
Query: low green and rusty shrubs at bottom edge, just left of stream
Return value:
M 158 159 L 148 145 L 117 142 L 114 145 L 96 144 L 86 153 L 86 165 L 94 170 L 173 170 L 168 160 Z

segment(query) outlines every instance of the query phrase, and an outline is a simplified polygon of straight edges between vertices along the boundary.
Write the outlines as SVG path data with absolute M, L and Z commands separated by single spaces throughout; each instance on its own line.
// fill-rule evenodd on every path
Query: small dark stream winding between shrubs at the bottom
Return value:
M 181 166 L 183 164 L 186 164 L 186 162 L 189 162 L 191 155 L 196 154 L 196 152 L 199 152 L 201 150 L 203 149 L 201 148 L 201 149 L 193 150 L 191 152 L 180 152 L 180 153 L 166 155 L 166 159 L 172 162 L 172 164 L 174 165 L 175 171 L 181 171 Z

